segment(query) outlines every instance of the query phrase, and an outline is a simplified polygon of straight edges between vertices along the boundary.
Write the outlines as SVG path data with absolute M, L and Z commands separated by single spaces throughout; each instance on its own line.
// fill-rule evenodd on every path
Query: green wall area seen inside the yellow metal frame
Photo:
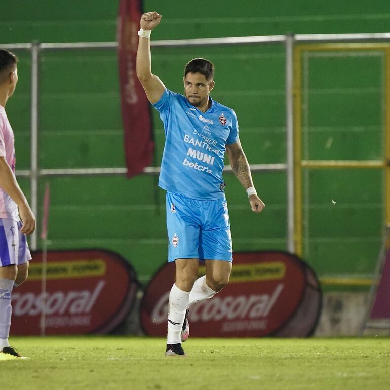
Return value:
M 385 61 L 381 49 L 302 52 L 304 160 L 383 159 Z M 303 254 L 319 274 L 370 274 L 384 197 L 381 169 L 303 169 Z

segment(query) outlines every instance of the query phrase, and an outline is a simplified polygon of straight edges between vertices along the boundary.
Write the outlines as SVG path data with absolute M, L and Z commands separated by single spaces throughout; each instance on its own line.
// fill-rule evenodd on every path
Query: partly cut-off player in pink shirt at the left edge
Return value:
M 25 235 L 35 230 L 35 217 L 15 178 L 14 133 L 5 111 L 18 82 L 17 60 L 0 49 L 0 359 L 22 358 L 8 342 L 11 293 L 27 278 L 31 254 Z

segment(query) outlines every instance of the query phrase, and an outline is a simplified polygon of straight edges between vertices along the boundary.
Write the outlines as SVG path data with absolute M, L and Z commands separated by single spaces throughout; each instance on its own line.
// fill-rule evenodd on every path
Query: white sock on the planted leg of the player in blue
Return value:
M 189 292 L 180 290 L 176 284 L 169 293 L 167 344 L 181 342 L 180 333 L 188 307 Z

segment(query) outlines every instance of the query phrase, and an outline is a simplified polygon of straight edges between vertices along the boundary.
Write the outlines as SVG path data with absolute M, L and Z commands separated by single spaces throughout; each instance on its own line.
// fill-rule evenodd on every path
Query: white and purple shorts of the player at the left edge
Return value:
M 20 232 L 21 227 L 21 221 L 0 218 L 0 267 L 31 260 L 26 236 Z

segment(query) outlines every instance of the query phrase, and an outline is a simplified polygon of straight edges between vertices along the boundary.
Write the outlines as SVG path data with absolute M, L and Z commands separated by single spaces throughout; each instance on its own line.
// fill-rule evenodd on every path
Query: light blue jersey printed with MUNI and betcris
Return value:
M 226 144 L 239 139 L 236 113 L 210 98 L 202 112 L 185 96 L 166 89 L 153 104 L 164 123 L 165 147 L 159 186 L 197 200 L 225 197 L 222 178 Z

